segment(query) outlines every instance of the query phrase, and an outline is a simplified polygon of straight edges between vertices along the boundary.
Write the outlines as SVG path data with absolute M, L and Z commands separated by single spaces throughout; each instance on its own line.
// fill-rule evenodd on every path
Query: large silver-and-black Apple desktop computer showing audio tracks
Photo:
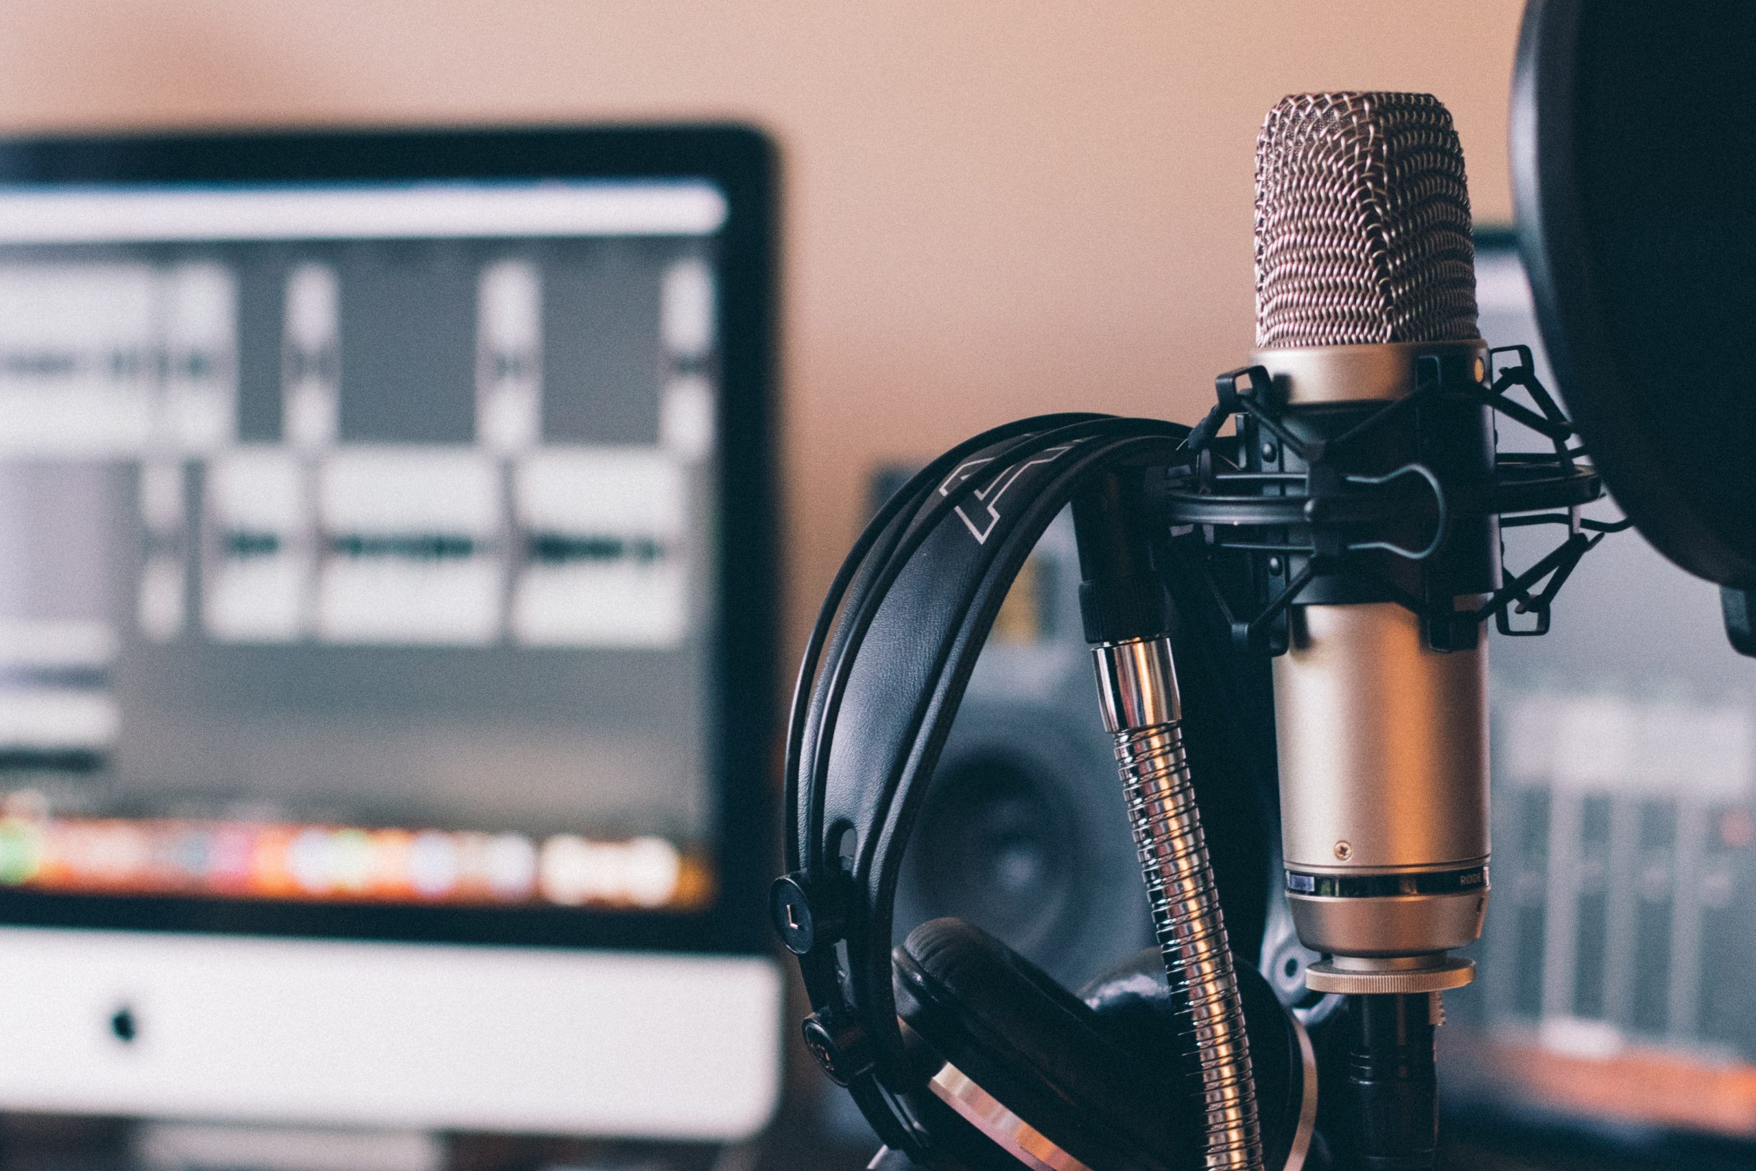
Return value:
M 780 1087 L 773 153 L 0 144 L 0 1108 Z

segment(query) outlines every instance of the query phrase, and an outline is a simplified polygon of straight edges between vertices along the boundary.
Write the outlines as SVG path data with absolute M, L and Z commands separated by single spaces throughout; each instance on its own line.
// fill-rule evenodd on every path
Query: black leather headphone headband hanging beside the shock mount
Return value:
M 1185 434 L 1062 414 L 978 435 L 892 497 L 824 604 L 794 697 L 790 873 L 773 911 L 811 1001 L 806 1039 L 892 1148 L 922 1148 L 899 1101 L 915 1078 L 890 987 L 892 904 L 976 657 L 1055 514 L 1119 467 L 1187 458 Z

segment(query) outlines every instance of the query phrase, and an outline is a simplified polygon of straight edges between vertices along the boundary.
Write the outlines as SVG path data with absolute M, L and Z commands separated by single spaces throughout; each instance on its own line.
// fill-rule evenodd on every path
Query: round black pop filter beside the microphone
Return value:
M 1531 0 L 1512 181 L 1593 462 L 1756 653 L 1756 5 Z

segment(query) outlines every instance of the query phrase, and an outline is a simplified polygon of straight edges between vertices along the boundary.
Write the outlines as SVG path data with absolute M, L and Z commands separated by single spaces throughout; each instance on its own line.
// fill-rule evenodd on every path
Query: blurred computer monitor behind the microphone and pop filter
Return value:
M 1510 235 L 1477 272 L 1484 337 L 1536 348 Z M 1563 532 L 1508 530 L 1508 564 Z M 1452 1104 L 1756 1139 L 1756 665 L 1717 590 L 1612 534 L 1489 674 L 1493 895 L 1479 980 L 1445 997 Z

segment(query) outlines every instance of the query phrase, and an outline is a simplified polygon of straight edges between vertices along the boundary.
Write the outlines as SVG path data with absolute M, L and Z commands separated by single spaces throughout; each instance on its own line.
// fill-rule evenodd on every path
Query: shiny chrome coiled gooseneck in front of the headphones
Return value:
M 1127 639 L 1099 644 L 1092 655 L 1178 1027 L 1199 1060 L 1205 1166 L 1261 1171 L 1250 1045 L 1184 757 L 1171 644 Z

